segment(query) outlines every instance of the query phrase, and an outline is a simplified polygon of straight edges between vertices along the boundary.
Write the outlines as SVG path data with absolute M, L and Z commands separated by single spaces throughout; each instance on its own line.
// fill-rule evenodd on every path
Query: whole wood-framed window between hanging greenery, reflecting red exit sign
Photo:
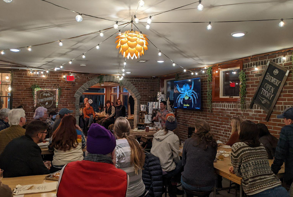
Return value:
M 212 69 L 212 101 L 240 101 L 239 72 L 242 62 L 215 66 Z

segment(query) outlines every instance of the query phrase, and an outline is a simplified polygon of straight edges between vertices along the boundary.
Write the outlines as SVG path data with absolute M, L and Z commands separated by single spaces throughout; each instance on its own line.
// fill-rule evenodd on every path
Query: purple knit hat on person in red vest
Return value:
M 86 150 L 92 154 L 108 154 L 116 147 L 114 135 L 98 123 L 91 124 L 86 140 Z

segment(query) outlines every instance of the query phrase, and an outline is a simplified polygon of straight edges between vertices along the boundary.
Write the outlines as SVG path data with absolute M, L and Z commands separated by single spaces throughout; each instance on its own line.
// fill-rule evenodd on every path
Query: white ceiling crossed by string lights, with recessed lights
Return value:
M 138 0 L 48 0 L 60 6 L 93 16 L 117 21 L 130 21 L 137 8 Z M 136 16 L 144 18 L 156 13 L 173 9 L 195 0 L 144 0 L 144 7 L 139 7 Z M 204 0 L 204 9 L 197 10 L 198 3 L 178 10 L 154 16 L 153 22 L 191 22 L 191 21 L 234 21 L 275 18 L 292 18 L 293 1 L 289 0 Z M 97 30 L 113 27 L 114 22 L 83 15 L 83 21 L 75 20 L 76 13 L 56 7 L 40 0 L 13 0 L 11 3 L 0 1 L 0 49 L 23 47 L 69 38 Z M 146 19 L 141 20 L 146 22 Z M 293 47 L 293 20 L 280 21 L 212 23 L 212 30 L 207 30 L 207 23 L 151 23 L 146 30 L 146 23 L 136 24 L 149 39 L 168 57 L 181 66 L 192 69 L 209 64 L 246 57 L 253 54 L 270 52 Z M 121 24 L 121 23 L 119 23 Z M 121 27 L 121 26 L 120 26 Z M 119 28 L 120 29 L 120 28 Z M 128 25 L 123 30 L 131 29 Z M 136 28 L 134 28 L 136 30 Z M 25 64 L 36 68 L 50 69 L 60 66 L 115 33 L 115 29 L 98 34 L 64 40 L 58 43 L 33 47 L 31 52 L 6 51 L 1 60 Z M 246 31 L 241 38 L 230 34 Z M 64 70 L 102 74 L 121 74 L 124 58 L 116 49 L 115 36 L 86 53 L 86 62 L 73 61 L 65 64 Z M 149 43 L 149 49 L 140 59 L 149 60 L 137 63 L 127 60 L 126 72 L 132 76 L 160 76 L 182 71 L 172 66 L 165 56 L 159 57 L 158 50 Z M 77 59 L 82 59 L 77 58 Z M 156 60 L 166 60 L 157 63 Z M 86 67 L 80 64 L 85 63 Z

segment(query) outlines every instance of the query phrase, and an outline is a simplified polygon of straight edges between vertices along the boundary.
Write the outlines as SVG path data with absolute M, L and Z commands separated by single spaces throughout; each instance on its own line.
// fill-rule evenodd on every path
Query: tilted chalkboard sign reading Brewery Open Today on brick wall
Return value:
M 268 121 L 272 113 L 288 74 L 289 70 L 272 61 L 268 61 L 263 71 L 249 108 L 252 108 L 253 103 L 260 106 L 268 113 L 265 118 L 266 121 Z

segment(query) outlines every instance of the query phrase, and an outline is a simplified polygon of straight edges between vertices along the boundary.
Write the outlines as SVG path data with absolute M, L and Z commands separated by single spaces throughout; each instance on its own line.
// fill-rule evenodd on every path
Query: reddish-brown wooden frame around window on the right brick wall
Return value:
M 240 67 L 240 71 L 242 70 L 243 62 L 235 62 L 231 64 L 225 64 L 222 66 L 215 66 L 212 69 L 212 75 L 213 75 L 213 82 L 212 82 L 212 101 L 228 101 L 228 102 L 240 102 L 239 98 L 221 98 L 220 97 L 220 73 L 216 73 L 217 70 L 221 69 L 228 69 L 228 68 L 234 68 L 234 67 Z

